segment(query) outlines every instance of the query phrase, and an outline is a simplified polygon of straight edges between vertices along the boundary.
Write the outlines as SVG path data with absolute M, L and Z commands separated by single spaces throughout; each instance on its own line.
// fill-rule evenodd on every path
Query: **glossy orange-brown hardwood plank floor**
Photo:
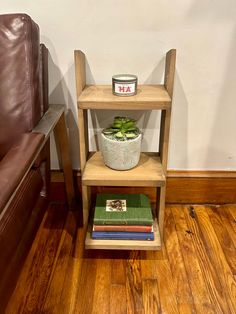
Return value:
M 51 204 L 6 313 L 236 313 L 236 205 L 165 218 L 160 252 L 84 252 L 75 213 Z

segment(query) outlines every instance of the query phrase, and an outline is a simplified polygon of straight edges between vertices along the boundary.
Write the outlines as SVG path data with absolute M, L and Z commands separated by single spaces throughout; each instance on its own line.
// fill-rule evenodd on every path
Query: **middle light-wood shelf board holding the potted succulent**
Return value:
M 141 153 L 139 164 L 120 171 L 107 167 L 101 152 L 93 153 L 84 169 L 83 185 L 87 186 L 164 186 L 166 182 L 160 157 L 154 153 Z

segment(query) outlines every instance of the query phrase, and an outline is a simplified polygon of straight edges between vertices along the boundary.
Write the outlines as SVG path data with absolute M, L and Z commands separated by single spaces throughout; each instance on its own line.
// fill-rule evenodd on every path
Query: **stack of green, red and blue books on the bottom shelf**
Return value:
M 148 197 L 144 194 L 98 194 L 92 238 L 154 240 Z

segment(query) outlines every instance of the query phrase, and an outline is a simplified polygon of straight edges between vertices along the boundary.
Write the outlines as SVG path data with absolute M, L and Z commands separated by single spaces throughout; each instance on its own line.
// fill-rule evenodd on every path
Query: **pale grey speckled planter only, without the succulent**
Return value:
M 101 133 L 101 151 L 105 165 L 115 170 L 134 168 L 140 158 L 142 134 L 133 140 L 116 141 Z

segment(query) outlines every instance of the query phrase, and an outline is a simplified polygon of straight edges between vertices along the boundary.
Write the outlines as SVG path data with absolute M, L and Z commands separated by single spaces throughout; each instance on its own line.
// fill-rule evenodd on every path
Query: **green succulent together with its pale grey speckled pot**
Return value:
M 101 151 L 104 163 L 115 170 L 135 167 L 140 158 L 142 134 L 136 121 L 115 117 L 113 124 L 102 131 Z

